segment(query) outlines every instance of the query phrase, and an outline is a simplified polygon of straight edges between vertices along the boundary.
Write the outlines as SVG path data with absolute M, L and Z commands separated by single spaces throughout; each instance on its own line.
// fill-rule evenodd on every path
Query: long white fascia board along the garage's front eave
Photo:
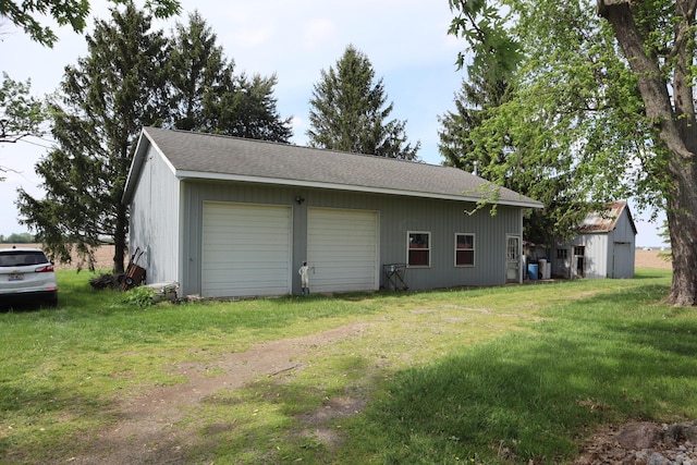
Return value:
M 327 189 L 333 189 L 333 191 L 363 192 L 363 193 L 370 193 L 370 194 L 389 194 L 389 195 L 399 195 L 403 197 L 437 198 L 441 200 L 470 201 L 473 204 L 481 201 L 480 197 L 469 197 L 465 195 L 433 194 L 433 193 L 424 193 L 424 192 L 417 192 L 417 191 L 401 191 L 401 189 L 394 189 L 394 188 L 368 187 L 368 186 L 359 186 L 354 184 L 321 183 L 321 182 L 315 182 L 315 181 L 248 176 L 248 175 L 227 174 L 227 173 L 210 173 L 210 172 L 203 172 L 203 171 L 176 171 L 175 175 L 179 180 L 182 180 L 182 181 L 183 180 L 236 181 L 236 182 L 257 183 L 257 184 L 286 185 L 286 186 L 294 186 L 294 187 L 316 187 L 316 188 L 327 188 Z M 511 206 L 511 207 L 522 207 L 522 208 L 542 208 L 542 204 L 529 203 L 529 201 L 502 200 L 502 201 L 497 201 L 496 204 Z

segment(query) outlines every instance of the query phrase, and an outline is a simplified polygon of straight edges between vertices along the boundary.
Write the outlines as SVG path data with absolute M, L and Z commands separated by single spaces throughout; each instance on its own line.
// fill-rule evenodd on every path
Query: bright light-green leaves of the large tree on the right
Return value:
M 641 2 L 636 15 L 647 37 L 656 36 L 657 51 L 671 37 L 669 2 L 660 3 Z M 506 76 L 515 90 L 487 102 L 473 100 L 463 84 L 458 113 L 442 119 L 448 139 L 441 135 L 441 150 L 449 160 L 462 150 L 461 159 L 478 160 L 486 178 L 542 201 L 554 235 L 568 231 L 586 201 L 635 197 L 640 207 L 664 206 L 671 183 L 665 147 L 645 115 L 636 74 L 594 8 L 527 0 L 451 1 L 451 8 L 450 33 L 464 37 L 474 54 L 472 88 L 491 95 L 492 65 L 505 69 L 493 75 Z M 506 37 L 516 38 L 510 49 L 518 53 L 492 54 Z

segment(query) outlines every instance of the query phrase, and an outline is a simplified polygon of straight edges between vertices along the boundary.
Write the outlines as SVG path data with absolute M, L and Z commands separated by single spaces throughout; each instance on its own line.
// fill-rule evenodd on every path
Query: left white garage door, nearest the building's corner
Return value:
M 291 208 L 204 204 L 201 294 L 291 292 Z

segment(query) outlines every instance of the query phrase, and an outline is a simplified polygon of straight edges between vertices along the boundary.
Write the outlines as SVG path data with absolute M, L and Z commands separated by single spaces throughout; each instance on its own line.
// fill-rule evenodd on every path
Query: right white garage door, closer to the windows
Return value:
M 307 260 L 313 292 L 378 289 L 378 221 L 375 211 L 310 208 Z

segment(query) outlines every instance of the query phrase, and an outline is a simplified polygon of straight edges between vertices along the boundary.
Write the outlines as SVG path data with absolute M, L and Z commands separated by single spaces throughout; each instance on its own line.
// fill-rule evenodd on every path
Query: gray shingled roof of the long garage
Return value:
M 137 180 L 148 144 L 169 160 L 180 179 L 246 180 L 470 201 L 487 197 L 486 191 L 491 188 L 487 181 L 456 168 L 146 127 L 131 168 L 124 200 L 135 188 L 132 184 Z M 497 203 L 541 207 L 540 203 L 506 188 L 500 189 Z

